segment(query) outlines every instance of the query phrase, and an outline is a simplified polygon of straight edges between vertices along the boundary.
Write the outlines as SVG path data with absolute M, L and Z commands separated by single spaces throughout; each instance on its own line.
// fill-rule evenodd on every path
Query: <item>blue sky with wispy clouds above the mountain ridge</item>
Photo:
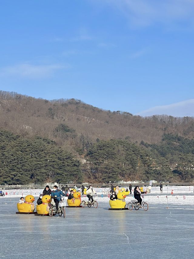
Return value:
M 194 116 L 193 0 L 2 1 L 1 90 Z

